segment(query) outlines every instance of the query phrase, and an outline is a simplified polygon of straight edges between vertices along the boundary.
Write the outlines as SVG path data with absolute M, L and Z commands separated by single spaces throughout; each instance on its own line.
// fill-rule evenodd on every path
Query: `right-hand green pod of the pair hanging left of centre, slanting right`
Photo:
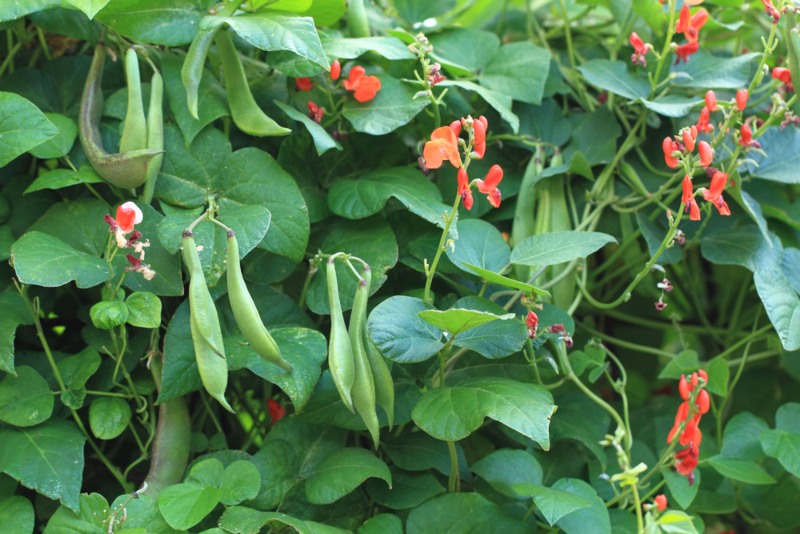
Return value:
M 239 263 L 239 243 L 236 234 L 228 231 L 228 298 L 236 324 L 259 356 L 290 373 L 292 365 L 281 357 L 281 349 L 261 321 L 261 316 L 247 290 Z

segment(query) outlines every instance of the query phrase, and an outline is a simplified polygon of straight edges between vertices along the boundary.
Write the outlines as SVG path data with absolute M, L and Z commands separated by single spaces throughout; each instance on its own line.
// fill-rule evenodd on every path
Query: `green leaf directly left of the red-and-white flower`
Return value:
M 42 232 L 27 232 L 11 247 L 14 269 L 23 284 L 58 287 L 75 280 L 79 288 L 108 279 L 108 265 Z

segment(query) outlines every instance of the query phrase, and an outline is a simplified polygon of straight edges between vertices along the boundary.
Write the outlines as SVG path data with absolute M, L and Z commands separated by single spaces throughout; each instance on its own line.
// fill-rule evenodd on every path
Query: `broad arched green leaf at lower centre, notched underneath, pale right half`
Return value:
M 506 378 L 474 378 L 458 386 L 426 392 L 411 417 L 417 425 L 443 441 L 458 441 L 494 419 L 550 448 L 553 397 L 546 389 Z

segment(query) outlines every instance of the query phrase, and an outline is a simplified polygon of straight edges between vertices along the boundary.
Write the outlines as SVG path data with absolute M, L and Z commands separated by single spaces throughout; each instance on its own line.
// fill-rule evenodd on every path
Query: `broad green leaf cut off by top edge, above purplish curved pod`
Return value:
M 194 0 L 114 0 L 95 18 L 137 42 L 182 46 L 192 42 L 204 14 Z

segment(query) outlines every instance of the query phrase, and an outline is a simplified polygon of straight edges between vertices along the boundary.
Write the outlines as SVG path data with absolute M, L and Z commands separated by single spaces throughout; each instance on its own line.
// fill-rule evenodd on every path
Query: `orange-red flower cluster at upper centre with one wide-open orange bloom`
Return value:
M 486 195 L 489 204 L 495 208 L 500 207 L 502 194 L 497 188 L 503 180 L 503 169 L 500 165 L 492 165 L 486 178 L 469 180 L 467 170 L 461 165 L 461 154 L 458 149 L 458 136 L 461 135 L 461 127 L 464 127 L 471 135 L 472 159 L 483 159 L 486 153 L 486 130 L 489 121 L 481 115 L 477 119 L 467 117 L 460 121 L 453 121 L 449 126 L 436 128 L 431 134 L 431 140 L 425 143 L 422 156 L 425 160 L 425 169 L 438 169 L 442 163 L 449 161 L 453 167 L 458 169 L 458 194 L 464 202 L 464 207 L 472 209 L 474 200 L 472 198 L 472 185 L 478 191 Z

